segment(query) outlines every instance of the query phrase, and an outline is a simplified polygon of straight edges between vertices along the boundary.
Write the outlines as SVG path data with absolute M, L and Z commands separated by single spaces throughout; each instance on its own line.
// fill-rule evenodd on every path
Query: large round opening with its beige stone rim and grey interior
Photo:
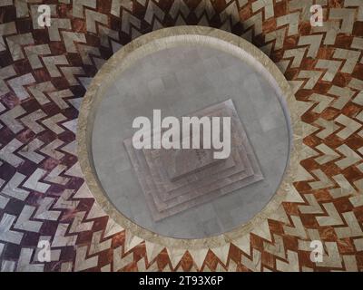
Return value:
M 133 235 L 167 247 L 223 246 L 258 230 L 266 218 L 279 218 L 277 209 L 299 164 L 287 167 L 289 158 L 299 160 L 301 148 L 295 102 L 276 65 L 238 36 L 197 26 L 145 34 L 103 65 L 83 98 L 77 140 L 84 178 L 106 213 Z M 237 147 L 245 151 L 238 152 L 240 160 L 231 153 L 228 170 L 213 163 L 214 175 L 211 168 L 202 168 L 207 174 L 198 162 L 186 162 L 186 173 L 200 174 L 213 186 L 203 184 L 203 190 L 188 194 L 177 191 L 176 198 L 163 196 L 170 189 L 160 190 L 162 172 L 173 182 L 173 174 L 179 179 L 181 172 L 156 162 L 158 155 L 130 147 L 136 131 L 132 121 L 140 116 L 152 120 L 155 109 L 162 118 L 201 117 L 206 111 L 223 115 L 227 110 L 233 123 L 231 148 L 242 144 Z M 229 175 L 235 172 L 231 169 L 242 170 L 237 166 L 241 160 L 247 175 Z M 198 170 L 193 171 L 195 163 Z M 162 203 L 155 192 L 159 200 L 165 198 Z M 162 217 L 155 215 L 155 200 Z

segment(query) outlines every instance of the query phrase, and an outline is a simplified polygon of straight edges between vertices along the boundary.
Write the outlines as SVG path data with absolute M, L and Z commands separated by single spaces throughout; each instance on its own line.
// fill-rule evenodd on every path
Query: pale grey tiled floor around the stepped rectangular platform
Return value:
M 182 116 L 232 99 L 264 179 L 153 222 L 123 140 L 137 116 Z M 168 237 L 210 237 L 240 226 L 269 202 L 289 159 L 289 124 L 280 96 L 260 73 L 230 54 L 185 45 L 153 53 L 106 92 L 93 128 L 93 160 L 113 205 L 138 225 Z

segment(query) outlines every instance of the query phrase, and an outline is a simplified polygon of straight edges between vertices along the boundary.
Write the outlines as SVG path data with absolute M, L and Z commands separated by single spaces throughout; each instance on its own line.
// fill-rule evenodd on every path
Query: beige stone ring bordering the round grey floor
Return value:
M 290 155 L 289 164 L 280 183 L 279 189 L 270 199 L 268 204 L 256 214 L 249 222 L 242 224 L 229 232 L 218 236 L 205 238 L 175 238 L 165 237 L 154 233 L 149 229 L 141 227 L 113 206 L 97 178 L 93 164 L 92 135 L 93 123 L 98 105 L 103 100 L 103 92 L 107 90 L 110 83 L 116 80 L 120 73 L 129 68 L 132 63 L 142 59 L 148 54 L 162 49 L 174 47 L 181 43 L 198 43 L 209 47 L 231 53 L 241 61 L 250 63 L 259 73 L 263 74 L 273 87 L 280 91 L 285 97 L 284 102 L 289 109 L 287 116 L 290 123 Z M 252 56 L 252 57 L 250 57 Z M 86 185 L 93 197 L 106 214 L 120 226 L 128 230 L 133 236 L 159 244 L 163 247 L 174 247 L 181 249 L 201 249 L 206 247 L 223 247 L 228 243 L 239 240 L 249 235 L 252 230 L 259 228 L 262 222 L 268 218 L 277 218 L 280 215 L 281 202 L 286 199 L 293 187 L 294 177 L 298 175 L 299 161 L 302 154 L 303 126 L 299 120 L 299 102 L 296 101 L 294 93 L 279 68 L 270 58 L 260 51 L 259 48 L 244 40 L 243 38 L 221 31 L 216 28 L 205 26 L 176 26 L 163 28 L 132 40 L 124 45 L 118 52 L 103 64 L 102 68 L 93 77 L 93 81 L 84 94 L 83 102 L 79 111 L 77 126 L 77 155 Z

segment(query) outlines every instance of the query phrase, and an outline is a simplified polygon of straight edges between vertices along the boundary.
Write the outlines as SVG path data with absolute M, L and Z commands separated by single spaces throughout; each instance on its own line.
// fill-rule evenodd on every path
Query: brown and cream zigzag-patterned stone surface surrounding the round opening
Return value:
M 358 0 L 0 3 L 1 271 L 361 271 L 363 2 Z M 319 2 L 324 25 L 309 24 Z M 83 95 L 113 53 L 176 25 L 229 31 L 278 65 L 295 93 L 299 168 L 274 214 L 242 237 L 172 247 L 121 227 L 95 203 L 77 156 Z M 130 225 L 132 226 L 132 225 Z M 49 241 L 51 261 L 38 258 Z M 321 241 L 323 260 L 310 260 Z

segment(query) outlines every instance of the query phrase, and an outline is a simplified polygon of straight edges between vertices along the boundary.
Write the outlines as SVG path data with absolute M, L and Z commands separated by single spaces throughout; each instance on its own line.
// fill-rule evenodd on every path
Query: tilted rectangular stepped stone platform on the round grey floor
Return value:
M 263 179 L 231 100 L 191 116 L 231 117 L 231 154 L 227 159 L 214 159 L 214 149 L 135 150 L 132 138 L 123 141 L 155 221 Z

